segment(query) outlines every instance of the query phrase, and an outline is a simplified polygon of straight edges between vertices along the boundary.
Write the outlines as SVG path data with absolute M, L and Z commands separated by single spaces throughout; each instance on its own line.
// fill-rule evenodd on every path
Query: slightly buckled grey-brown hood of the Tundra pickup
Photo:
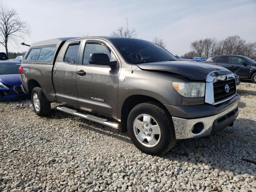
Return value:
M 152 63 L 137 64 L 142 70 L 152 70 L 156 72 L 170 72 L 171 74 L 179 74 L 189 78 L 190 80 L 206 80 L 206 76 L 212 71 L 228 69 L 208 64 L 204 62 L 192 61 L 162 61 Z

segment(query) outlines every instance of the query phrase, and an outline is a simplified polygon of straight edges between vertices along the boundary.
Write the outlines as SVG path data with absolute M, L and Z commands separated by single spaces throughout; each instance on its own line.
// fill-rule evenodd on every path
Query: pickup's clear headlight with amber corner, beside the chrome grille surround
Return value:
M 172 82 L 172 86 L 184 97 L 204 97 L 205 83 Z

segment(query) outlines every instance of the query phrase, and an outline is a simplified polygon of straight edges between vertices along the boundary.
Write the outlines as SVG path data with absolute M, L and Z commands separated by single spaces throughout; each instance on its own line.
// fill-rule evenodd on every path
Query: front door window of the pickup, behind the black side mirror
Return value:
M 83 65 L 89 64 L 90 54 L 92 53 L 106 53 L 110 61 L 116 61 L 116 57 L 107 46 L 104 46 L 99 43 L 86 43 L 84 48 Z

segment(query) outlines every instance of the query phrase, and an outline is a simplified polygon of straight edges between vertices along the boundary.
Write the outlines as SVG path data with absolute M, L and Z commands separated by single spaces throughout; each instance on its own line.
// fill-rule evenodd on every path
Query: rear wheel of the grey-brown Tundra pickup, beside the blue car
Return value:
M 35 87 L 31 93 L 31 101 L 34 111 L 38 116 L 48 116 L 51 110 L 51 104 L 44 95 L 42 88 Z

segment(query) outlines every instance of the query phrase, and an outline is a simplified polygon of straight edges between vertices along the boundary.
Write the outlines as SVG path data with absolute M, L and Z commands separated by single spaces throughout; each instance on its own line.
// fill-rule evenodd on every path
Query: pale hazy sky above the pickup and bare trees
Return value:
M 0 0 L 17 10 L 32 30 L 33 42 L 80 36 L 110 36 L 119 26 L 134 28 L 137 38 L 162 38 L 166 49 L 182 55 L 201 38 L 239 35 L 256 42 L 256 0 Z M 9 52 L 27 46 L 8 44 Z M 5 52 L 0 45 L 0 52 Z

